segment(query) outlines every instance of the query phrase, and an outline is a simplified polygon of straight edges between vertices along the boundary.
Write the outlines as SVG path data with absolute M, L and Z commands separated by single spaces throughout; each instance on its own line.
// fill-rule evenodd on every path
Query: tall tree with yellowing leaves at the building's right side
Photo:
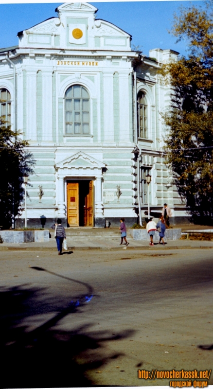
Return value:
M 172 86 L 166 164 L 194 222 L 213 222 L 213 8 L 181 7 L 171 33 L 187 39 L 188 56 L 164 64 Z

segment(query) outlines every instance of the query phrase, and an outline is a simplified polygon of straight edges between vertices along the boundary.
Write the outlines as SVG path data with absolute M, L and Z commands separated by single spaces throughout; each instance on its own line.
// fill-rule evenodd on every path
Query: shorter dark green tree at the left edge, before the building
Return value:
M 35 163 L 25 147 L 27 141 L 18 138 L 3 117 L 0 117 L 0 226 L 10 228 L 18 215 L 23 199 L 23 174 L 33 173 Z

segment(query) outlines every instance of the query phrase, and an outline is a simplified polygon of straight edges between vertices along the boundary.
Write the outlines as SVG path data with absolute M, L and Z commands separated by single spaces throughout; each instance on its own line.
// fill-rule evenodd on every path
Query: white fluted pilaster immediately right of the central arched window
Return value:
M 114 141 L 113 74 L 104 73 L 104 140 Z

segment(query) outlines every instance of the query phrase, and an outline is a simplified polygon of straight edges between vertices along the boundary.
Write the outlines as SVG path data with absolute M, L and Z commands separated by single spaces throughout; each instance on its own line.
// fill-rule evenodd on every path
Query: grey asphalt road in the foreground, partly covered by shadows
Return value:
M 1 388 L 168 386 L 138 370 L 210 371 L 212 257 L 0 252 Z

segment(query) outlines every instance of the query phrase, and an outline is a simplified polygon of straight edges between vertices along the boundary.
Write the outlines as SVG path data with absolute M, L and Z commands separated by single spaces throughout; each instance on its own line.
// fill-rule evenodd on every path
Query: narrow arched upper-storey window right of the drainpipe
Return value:
M 138 136 L 147 138 L 148 135 L 147 120 L 147 102 L 145 93 L 140 91 L 138 94 Z

